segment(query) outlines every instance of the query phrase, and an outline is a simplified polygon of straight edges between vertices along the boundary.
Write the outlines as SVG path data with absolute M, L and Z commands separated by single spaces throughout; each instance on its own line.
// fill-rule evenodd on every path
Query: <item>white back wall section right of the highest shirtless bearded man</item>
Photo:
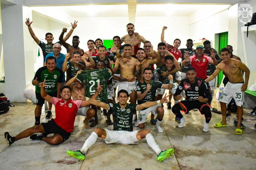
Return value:
M 163 26 L 167 26 L 167 30 L 164 31 L 164 40 L 167 43 L 173 45 L 174 39 L 179 38 L 181 40 L 180 48 L 186 47 L 186 40 L 190 38 L 187 23 L 188 17 L 186 16 L 136 17 L 134 25 L 135 32 L 149 40 L 154 50 L 157 50 L 157 44 L 161 42 Z

